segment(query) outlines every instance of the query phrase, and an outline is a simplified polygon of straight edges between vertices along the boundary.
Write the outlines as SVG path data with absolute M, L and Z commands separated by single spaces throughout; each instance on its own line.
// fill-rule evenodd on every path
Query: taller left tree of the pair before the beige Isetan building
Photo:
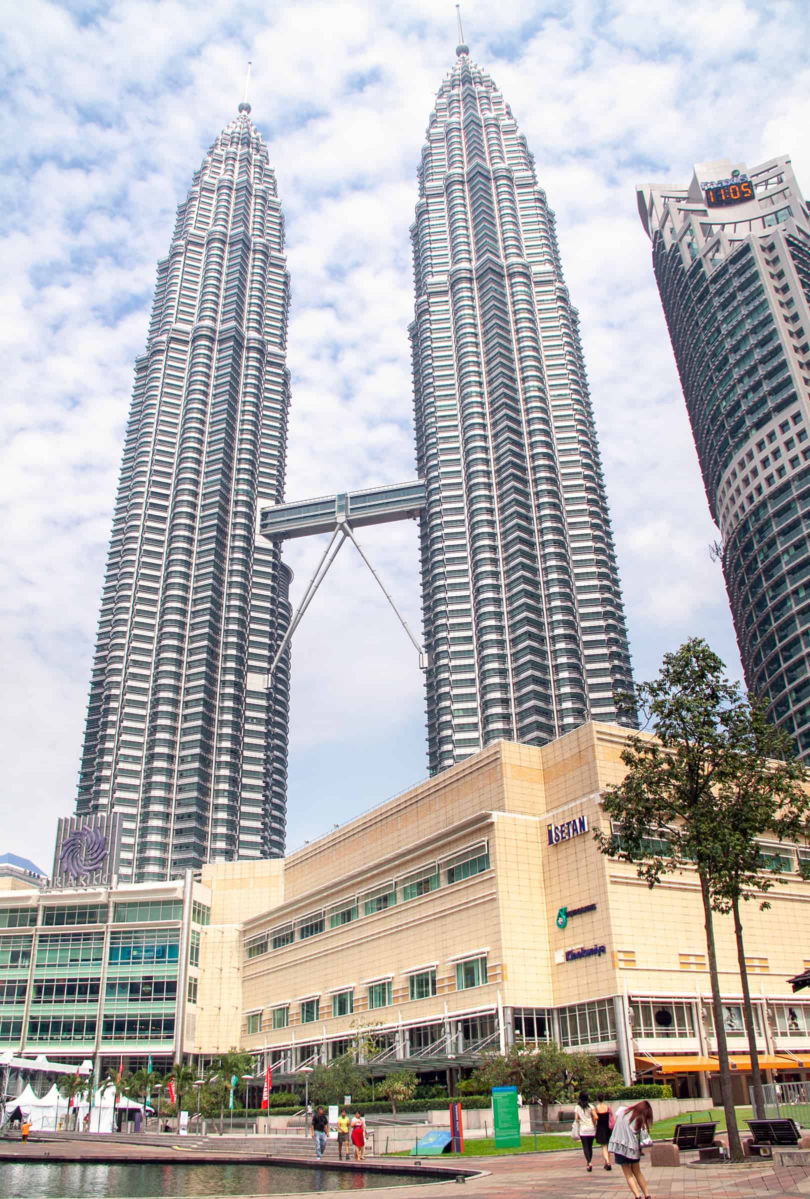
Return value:
M 774 741 L 767 736 L 761 710 L 745 699 L 738 683 L 729 682 L 724 663 L 701 638 L 667 653 L 658 679 L 637 687 L 634 704 L 652 723 L 654 737 L 628 737 L 621 755 L 627 775 L 603 799 L 612 830 L 598 830 L 594 836 L 604 854 L 634 863 L 651 887 L 673 870 L 696 870 L 729 1149 L 732 1159 L 741 1161 L 713 914 L 718 905 L 723 910 L 724 903 L 732 902 L 731 867 L 750 862 L 746 855 L 758 852 L 755 838 L 764 831 L 761 821 L 768 809 L 763 795 L 769 793 L 774 802 L 779 794 L 793 795 L 798 775 L 792 769 L 781 772 L 768 761 Z M 750 754 L 754 772 L 744 773 Z M 758 790 L 749 803 L 748 791 L 755 783 Z M 787 783 L 787 793 L 780 793 Z M 750 882 L 751 875 L 743 872 L 738 879 L 743 878 Z M 752 891 L 743 887 L 738 898 L 743 893 Z M 742 957 L 741 972 L 744 969 Z M 754 1062 L 756 1044 L 752 1038 L 750 1043 Z

